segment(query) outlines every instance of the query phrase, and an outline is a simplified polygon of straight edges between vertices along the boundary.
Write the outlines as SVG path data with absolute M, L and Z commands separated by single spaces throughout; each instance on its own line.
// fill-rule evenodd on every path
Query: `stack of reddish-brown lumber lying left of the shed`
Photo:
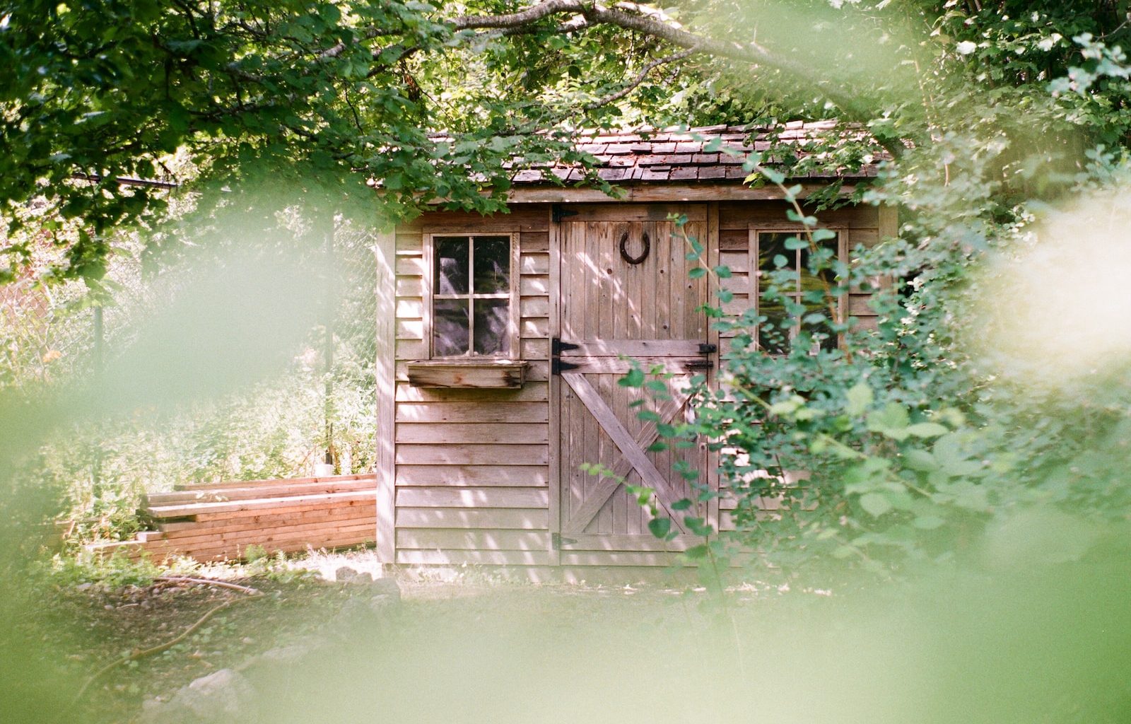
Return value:
M 139 515 L 152 531 L 87 550 L 215 561 L 241 559 L 252 545 L 269 553 L 344 548 L 374 540 L 375 505 L 372 474 L 179 485 L 147 497 Z

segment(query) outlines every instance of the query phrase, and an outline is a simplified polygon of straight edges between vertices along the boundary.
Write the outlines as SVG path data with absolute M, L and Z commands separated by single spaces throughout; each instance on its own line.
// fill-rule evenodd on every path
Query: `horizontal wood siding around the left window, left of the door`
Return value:
M 396 560 L 402 564 L 550 563 L 550 225 L 545 206 L 481 217 L 425 214 L 397 230 Z M 519 233 L 520 389 L 423 389 L 428 232 Z

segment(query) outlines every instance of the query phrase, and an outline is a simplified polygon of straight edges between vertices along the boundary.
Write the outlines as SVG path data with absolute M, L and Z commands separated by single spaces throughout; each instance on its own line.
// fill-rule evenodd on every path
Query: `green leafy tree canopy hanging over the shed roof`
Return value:
M 510 162 L 584 161 L 568 140 L 587 128 L 838 117 L 895 153 L 1001 146 L 994 180 L 1024 186 L 1125 136 L 1122 79 L 1046 92 L 1087 64 L 1073 37 L 1126 36 L 1124 5 L 9 0 L 0 202 L 15 232 L 12 205 L 45 199 L 35 232 L 97 278 L 110 230 L 165 209 L 121 176 L 338 199 L 377 181 L 392 215 L 491 212 Z

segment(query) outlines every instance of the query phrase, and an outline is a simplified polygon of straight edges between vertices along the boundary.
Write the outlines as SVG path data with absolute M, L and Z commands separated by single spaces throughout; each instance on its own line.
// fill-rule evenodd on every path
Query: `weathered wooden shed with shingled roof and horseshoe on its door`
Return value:
M 803 143 L 813 130 L 793 123 L 784 137 Z M 739 155 L 705 153 L 715 137 Z M 798 229 L 777 188 L 743 183 L 744 154 L 761 150 L 749 137 L 732 127 L 596 137 L 582 148 L 623 189 L 621 199 L 543 176 L 573 181 L 578 170 L 523 171 L 509 214 L 437 210 L 380 235 L 383 562 L 658 566 L 699 542 L 656 540 L 623 485 L 579 466 L 599 463 L 647 484 L 663 507 L 683 497 L 674 453 L 647 450 L 655 425 L 637 419 L 633 390 L 616 380 L 625 355 L 662 365 L 673 373 L 673 400 L 661 415 L 675 419 L 687 413 L 681 381 L 697 372 L 713 380 L 728 350 L 700 309 L 714 282 L 688 275 L 694 262 L 672 214 L 687 217 L 684 231 L 706 247 L 707 264 L 731 268 L 723 283 L 734 292 L 725 308 L 733 313 L 754 304 L 760 265 Z M 792 182 L 809 192 L 828 179 Z M 843 258 L 896 233 L 892 210 L 874 206 L 820 219 Z M 864 301 L 853 294 L 845 304 L 864 317 Z M 706 445 L 681 455 L 717 485 Z M 703 512 L 726 529 L 726 509 L 723 499 Z

